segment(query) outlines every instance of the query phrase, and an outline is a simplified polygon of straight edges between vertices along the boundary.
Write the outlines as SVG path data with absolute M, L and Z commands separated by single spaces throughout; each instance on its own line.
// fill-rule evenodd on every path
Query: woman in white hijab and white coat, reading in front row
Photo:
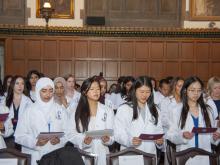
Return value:
M 37 139 L 40 132 L 66 132 L 66 111 L 53 99 L 54 83 L 49 78 L 40 78 L 36 84 L 36 102 L 29 106 L 18 121 L 15 141 L 22 145 L 22 152 L 31 154 L 35 165 L 43 155 L 61 148 L 65 136 L 53 139 Z

